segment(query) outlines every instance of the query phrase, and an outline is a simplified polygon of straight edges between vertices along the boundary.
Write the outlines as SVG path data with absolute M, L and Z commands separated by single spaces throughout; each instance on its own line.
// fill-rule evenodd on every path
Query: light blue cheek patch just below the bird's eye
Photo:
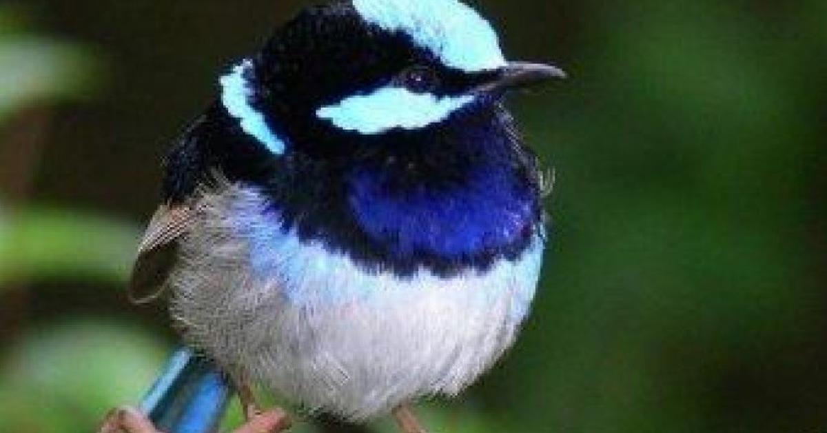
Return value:
M 372 94 L 356 95 L 336 105 L 319 108 L 318 118 L 346 131 L 377 134 L 394 128 L 418 129 L 445 120 L 471 103 L 471 95 L 414 94 L 408 89 L 385 87 Z

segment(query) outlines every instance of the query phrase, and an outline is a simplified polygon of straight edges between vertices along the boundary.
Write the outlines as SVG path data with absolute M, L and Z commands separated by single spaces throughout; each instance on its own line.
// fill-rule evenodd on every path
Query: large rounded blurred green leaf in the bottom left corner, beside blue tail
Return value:
M 93 431 L 136 404 L 169 348 L 111 320 L 70 320 L 27 334 L 0 363 L 0 431 Z

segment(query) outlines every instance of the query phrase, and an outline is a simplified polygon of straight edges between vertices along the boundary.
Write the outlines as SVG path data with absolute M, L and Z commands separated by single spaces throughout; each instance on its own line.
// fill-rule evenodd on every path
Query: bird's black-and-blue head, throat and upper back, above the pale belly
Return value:
M 505 60 L 457 0 L 312 7 L 222 76 L 170 153 L 165 197 L 218 171 L 263 192 L 285 229 L 366 266 L 483 269 L 519 257 L 543 214 L 504 94 L 562 76 Z

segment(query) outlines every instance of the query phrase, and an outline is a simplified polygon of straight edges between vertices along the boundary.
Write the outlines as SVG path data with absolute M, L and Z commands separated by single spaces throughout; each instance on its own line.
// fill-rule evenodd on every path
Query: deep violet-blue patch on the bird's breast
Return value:
M 400 187 L 387 171 L 357 171 L 349 203 L 367 235 L 398 259 L 447 260 L 508 249 L 537 225 L 534 190 L 509 168 L 480 166 L 450 185 Z

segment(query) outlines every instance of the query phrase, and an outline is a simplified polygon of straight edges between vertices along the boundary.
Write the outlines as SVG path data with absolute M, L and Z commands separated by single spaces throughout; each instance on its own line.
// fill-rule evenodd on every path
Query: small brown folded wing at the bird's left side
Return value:
M 163 294 L 166 279 L 178 256 L 178 239 L 189 231 L 194 214 L 194 209 L 185 204 L 163 204 L 155 211 L 132 268 L 128 288 L 130 301 L 146 304 Z

